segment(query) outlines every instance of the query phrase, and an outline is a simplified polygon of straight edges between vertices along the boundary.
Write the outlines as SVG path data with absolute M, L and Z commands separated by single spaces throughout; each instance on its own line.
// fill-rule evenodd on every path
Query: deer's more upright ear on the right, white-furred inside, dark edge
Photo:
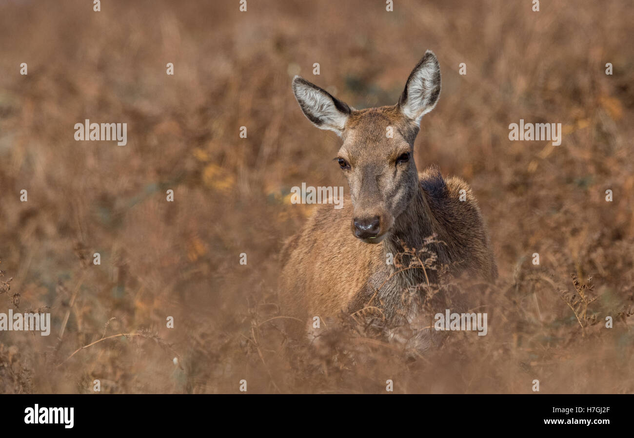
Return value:
M 428 50 L 407 79 L 398 106 L 404 116 L 420 125 L 420 119 L 434 109 L 440 96 L 440 65 Z

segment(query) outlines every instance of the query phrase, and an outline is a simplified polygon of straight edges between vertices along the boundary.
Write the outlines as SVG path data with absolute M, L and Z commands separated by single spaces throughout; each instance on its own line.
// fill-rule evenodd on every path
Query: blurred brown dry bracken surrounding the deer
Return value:
M 53 325 L 0 332 L 0 392 L 634 392 L 631 3 L 394 3 L 0 1 L 0 312 Z M 443 92 L 415 160 L 479 199 L 489 334 L 418 360 L 344 335 L 289 350 L 277 257 L 311 213 L 290 187 L 347 191 L 290 80 L 394 104 L 426 49 Z M 127 145 L 75 141 L 86 118 L 127 123 Z M 521 118 L 562 143 L 509 141 Z

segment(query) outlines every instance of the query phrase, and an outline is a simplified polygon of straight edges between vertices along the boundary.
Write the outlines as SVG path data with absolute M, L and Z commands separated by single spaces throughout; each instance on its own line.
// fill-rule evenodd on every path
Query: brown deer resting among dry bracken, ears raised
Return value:
M 431 165 L 418 173 L 414 143 L 422 117 L 441 92 L 439 62 L 432 51 L 408 77 L 396 105 L 354 109 L 306 79 L 292 90 L 316 127 L 342 140 L 337 165 L 347 179 L 343 208 L 316 207 L 302 230 L 281 250 L 280 304 L 290 318 L 332 318 L 377 303 L 387 322 L 411 321 L 403 291 L 438 280 L 424 268 L 399 270 L 387 263 L 404 248 L 430 246 L 450 275 L 493 282 L 498 275 L 477 199 L 459 177 L 443 178 Z M 391 132 L 392 135 L 386 135 Z M 429 341 L 424 341 L 426 346 Z

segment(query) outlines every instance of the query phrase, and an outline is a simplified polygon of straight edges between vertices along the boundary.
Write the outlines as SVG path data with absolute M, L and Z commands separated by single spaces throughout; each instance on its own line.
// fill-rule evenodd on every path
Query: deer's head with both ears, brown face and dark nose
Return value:
M 293 79 L 295 98 L 308 120 L 343 140 L 335 160 L 350 188 L 351 229 L 364 242 L 382 241 L 419 191 L 414 140 L 440 89 L 440 66 L 429 50 L 394 106 L 356 110 L 304 78 Z

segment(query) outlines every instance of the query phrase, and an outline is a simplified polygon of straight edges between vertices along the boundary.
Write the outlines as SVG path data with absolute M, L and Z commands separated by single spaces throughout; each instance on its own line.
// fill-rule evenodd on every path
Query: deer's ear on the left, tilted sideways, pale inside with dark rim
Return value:
M 342 135 L 352 111 L 347 104 L 299 76 L 293 78 L 293 92 L 304 115 L 313 125 Z

